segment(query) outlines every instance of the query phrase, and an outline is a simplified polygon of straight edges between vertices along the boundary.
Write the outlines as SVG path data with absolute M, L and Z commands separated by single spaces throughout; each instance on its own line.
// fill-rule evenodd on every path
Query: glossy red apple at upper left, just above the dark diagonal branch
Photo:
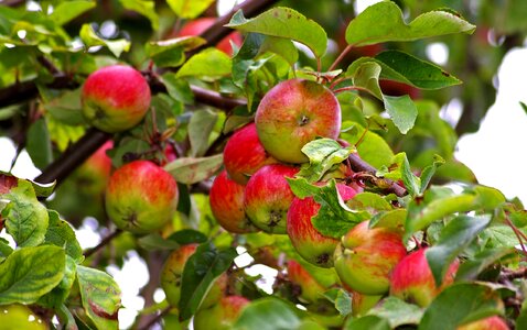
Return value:
M 110 65 L 94 72 L 83 85 L 83 114 L 93 127 L 117 133 L 137 125 L 150 107 L 144 77 L 130 66 Z

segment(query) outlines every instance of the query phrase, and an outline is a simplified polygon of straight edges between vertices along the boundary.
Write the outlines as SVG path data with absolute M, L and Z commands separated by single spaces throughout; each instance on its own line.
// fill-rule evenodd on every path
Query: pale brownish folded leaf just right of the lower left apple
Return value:
M 164 169 L 178 183 L 192 185 L 212 177 L 223 165 L 223 154 L 202 158 L 178 158 L 166 165 Z

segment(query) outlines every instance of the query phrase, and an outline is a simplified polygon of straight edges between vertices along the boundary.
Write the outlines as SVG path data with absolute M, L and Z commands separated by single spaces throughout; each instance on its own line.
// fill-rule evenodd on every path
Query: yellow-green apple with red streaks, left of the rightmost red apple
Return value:
M 389 275 L 406 255 L 401 233 L 389 228 L 368 228 L 363 221 L 352 228 L 335 249 L 335 271 L 352 290 L 383 295 L 389 289 Z

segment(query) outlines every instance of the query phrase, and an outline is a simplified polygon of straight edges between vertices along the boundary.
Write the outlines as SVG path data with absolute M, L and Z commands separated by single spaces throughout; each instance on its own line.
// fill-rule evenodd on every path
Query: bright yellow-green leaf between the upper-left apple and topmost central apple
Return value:
M 189 58 L 175 75 L 181 77 L 202 77 L 217 79 L 230 74 L 230 57 L 214 47 L 206 48 Z

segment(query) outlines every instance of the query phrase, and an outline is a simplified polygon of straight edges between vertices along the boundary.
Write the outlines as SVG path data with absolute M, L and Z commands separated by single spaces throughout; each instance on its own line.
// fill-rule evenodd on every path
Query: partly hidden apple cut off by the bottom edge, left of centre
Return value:
M 250 300 L 243 296 L 226 296 L 208 309 L 201 309 L 193 320 L 194 330 L 229 330 Z

